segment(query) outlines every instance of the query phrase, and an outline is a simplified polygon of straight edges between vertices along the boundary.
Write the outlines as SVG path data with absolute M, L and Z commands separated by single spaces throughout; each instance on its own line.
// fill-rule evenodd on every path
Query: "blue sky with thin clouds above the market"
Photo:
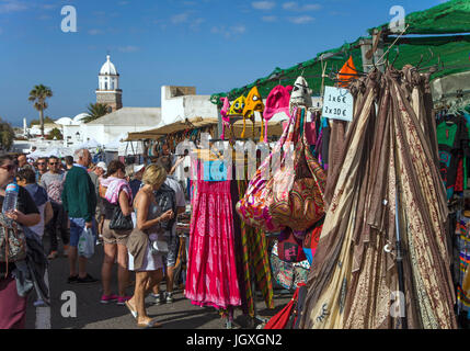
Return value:
M 314 57 L 442 0 L 0 0 L 0 117 L 13 125 L 38 114 L 38 83 L 54 91 L 46 115 L 84 112 L 110 52 L 125 106 L 160 106 L 163 84 L 198 94 L 239 88 Z M 65 5 L 77 33 L 60 29 Z

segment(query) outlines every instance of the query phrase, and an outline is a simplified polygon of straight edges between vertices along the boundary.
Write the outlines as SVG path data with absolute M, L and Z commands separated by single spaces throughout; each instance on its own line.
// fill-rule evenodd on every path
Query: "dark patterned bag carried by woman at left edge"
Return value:
M 8 268 L 8 263 L 24 259 L 26 259 L 26 236 L 23 227 L 0 213 L 0 262 L 5 262 Z

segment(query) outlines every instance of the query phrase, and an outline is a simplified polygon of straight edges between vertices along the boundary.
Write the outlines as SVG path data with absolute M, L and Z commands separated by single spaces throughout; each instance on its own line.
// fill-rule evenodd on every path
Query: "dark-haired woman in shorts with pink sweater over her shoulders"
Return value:
M 119 206 L 125 217 L 129 216 L 133 208 L 133 193 L 129 184 L 124 179 L 126 169 L 123 162 L 118 160 L 111 161 L 107 166 L 106 176 L 100 182 L 100 196 L 104 202 L 104 224 L 103 224 L 103 242 L 104 242 L 104 261 L 101 269 L 103 284 L 102 304 L 117 302 L 118 305 L 129 299 L 126 296 L 126 287 L 129 280 L 127 270 L 127 238 L 131 229 L 111 229 L 110 225 L 117 206 Z M 117 281 L 118 295 L 111 292 L 111 279 L 114 262 L 117 257 Z

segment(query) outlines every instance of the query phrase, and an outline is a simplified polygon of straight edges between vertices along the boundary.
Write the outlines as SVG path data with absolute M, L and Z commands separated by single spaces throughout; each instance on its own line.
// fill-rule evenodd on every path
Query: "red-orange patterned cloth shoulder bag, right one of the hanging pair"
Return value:
M 275 170 L 268 194 L 273 220 L 294 230 L 306 230 L 324 215 L 323 194 L 326 174 L 310 151 L 305 125 L 306 110 L 296 112 L 294 165 L 285 162 Z

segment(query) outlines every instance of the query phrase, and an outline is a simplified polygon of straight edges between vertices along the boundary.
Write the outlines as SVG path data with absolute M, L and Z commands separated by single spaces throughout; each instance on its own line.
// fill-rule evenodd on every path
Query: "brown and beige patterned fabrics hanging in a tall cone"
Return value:
M 308 279 L 301 328 L 403 328 L 402 318 L 390 314 L 400 279 L 410 329 L 457 326 L 446 199 L 403 79 L 389 67 L 364 78 L 364 92 L 352 89 L 358 105 L 332 194 L 326 194 L 332 200 Z M 406 252 L 402 275 L 397 230 Z

